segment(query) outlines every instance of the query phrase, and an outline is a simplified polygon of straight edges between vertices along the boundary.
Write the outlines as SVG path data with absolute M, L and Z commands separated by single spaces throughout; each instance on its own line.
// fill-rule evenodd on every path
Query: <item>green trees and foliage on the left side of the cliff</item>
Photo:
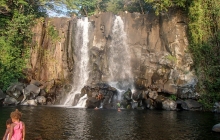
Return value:
M 0 2 L 0 88 L 24 76 L 29 60 L 31 27 L 43 15 L 36 1 L 5 0 Z

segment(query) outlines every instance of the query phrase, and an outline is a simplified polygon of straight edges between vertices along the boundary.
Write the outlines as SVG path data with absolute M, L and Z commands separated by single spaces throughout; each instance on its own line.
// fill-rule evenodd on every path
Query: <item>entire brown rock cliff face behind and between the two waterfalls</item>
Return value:
M 124 12 L 119 16 L 124 23 L 136 89 L 146 89 L 153 85 L 164 93 L 176 94 L 180 98 L 194 98 L 197 78 L 191 68 L 193 61 L 187 48 L 185 16 L 179 11 L 170 11 L 160 16 L 154 13 L 142 15 Z M 108 82 L 109 51 L 115 18 L 112 13 L 89 17 L 88 85 Z M 38 22 L 33 29 L 29 76 L 45 82 L 48 90 L 58 83 L 67 85 L 74 82 L 72 77 L 78 60 L 73 53 L 77 41 L 77 20 L 77 17 L 46 19 L 45 22 Z M 59 33 L 56 40 L 47 33 L 51 25 Z

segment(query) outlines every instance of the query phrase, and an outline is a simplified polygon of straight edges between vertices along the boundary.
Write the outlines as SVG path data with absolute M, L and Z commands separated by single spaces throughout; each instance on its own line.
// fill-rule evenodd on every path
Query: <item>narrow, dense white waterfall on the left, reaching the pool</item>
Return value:
M 75 47 L 74 47 L 74 74 L 73 74 L 73 88 L 71 92 L 66 97 L 64 105 L 75 105 L 75 96 L 76 94 L 80 94 L 81 89 L 87 84 L 89 78 L 89 29 L 90 23 L 88 22 L 88 18 L 82 18 L 77 20 L 77 31 L 75 36 Z M 77 104 L 79 107 L 85 106 L 85 98 L 79 100 L 80 102 Z M 83 106 L 84 105 L 84 106 Z

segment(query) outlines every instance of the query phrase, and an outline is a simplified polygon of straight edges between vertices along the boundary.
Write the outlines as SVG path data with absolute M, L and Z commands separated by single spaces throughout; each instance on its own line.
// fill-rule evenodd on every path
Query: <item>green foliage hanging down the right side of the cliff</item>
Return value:
M 209 110 L 220 101 L 220 1 L 219 0 L 145 0 L 156 14 L 170 7 L 181 7 L 189 19 L 189 50 L 199 78 L 199 101 Z

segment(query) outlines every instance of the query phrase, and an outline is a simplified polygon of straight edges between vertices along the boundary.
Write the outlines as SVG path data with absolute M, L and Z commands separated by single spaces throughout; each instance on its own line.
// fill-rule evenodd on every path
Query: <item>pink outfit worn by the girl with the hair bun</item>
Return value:
M 11 140 L 22 140 L 23 138 L 23 125 L 22 122 L 14 122 L 16 125 L 14 126 L 14 132 L 11 137 Z

